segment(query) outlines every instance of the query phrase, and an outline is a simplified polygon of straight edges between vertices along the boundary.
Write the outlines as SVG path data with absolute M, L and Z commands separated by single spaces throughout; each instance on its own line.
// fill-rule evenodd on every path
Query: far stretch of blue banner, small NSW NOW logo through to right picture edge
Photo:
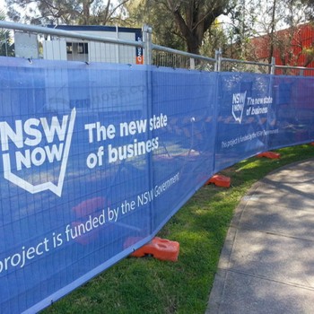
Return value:
M 313 77 L 220 73 L 218 84 L 214 172 L 313 141 Z

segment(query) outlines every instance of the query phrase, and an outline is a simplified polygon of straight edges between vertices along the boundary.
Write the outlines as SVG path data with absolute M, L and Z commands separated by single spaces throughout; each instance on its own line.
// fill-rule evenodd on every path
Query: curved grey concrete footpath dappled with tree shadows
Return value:
M 242 198 L 205 314 L 314 313 L 314 160 L 285 166 Z

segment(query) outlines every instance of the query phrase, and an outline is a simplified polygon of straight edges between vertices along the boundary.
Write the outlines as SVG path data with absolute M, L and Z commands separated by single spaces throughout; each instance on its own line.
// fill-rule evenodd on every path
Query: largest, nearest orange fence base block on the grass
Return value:
M 140 249 L 136 249 L 135 252 L 131 254 L 131 257 L 144 257 L 145 255 L 152 255 L 154 258 L 160 260 L 177 262 L 179 256 L 179 242 L 155 237 L 150 243 L 145 244 Z

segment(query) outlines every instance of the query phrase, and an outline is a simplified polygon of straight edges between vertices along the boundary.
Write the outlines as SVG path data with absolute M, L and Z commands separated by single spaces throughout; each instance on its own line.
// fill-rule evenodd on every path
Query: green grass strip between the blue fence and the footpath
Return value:
M 50 306 L 45 313 L 204 313 L 235 207 L 258 179 L 314 156 L 314 146 L 277 151 L 280 160 L 251 158 L 222 174 L 231 188 L 201 188 L 158 234 L 177 240 L 179 261 L 126 258 Z

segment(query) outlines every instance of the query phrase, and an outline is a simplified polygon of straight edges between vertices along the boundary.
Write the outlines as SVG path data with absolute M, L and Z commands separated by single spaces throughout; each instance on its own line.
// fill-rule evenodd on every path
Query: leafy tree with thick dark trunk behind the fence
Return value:
M 208 31 L 218 16 L 228 13 L 229 0 L 142 0 L 128 6 L 130 16 L 158 29 L 163 44 L 168 40 L 199 54 Z

